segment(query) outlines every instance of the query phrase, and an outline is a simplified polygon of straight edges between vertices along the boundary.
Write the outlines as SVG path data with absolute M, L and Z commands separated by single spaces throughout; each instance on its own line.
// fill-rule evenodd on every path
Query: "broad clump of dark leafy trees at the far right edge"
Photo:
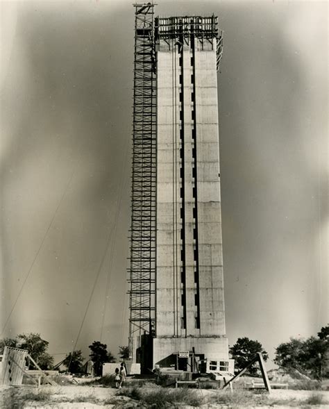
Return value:
M 318 337 L 307 340 L 290 338 L 276 348 L 274 362 L 288 371 L 297 369 L 312 378 L 328 376 L 329 327 L 321 328 Z

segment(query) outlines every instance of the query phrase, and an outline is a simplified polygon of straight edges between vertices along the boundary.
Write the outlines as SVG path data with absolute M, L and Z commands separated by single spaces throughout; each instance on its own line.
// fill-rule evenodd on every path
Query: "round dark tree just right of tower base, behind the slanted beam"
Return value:
M 237 342 L 230 347 L 230 354 L 235 360 L 235 368 L 238 370 L 244 369 L 248 362 L 255 358 L 256 353 L 262 353 L 264 361 L 267 361 L 269 358 L 267 351 L 262 347 L 262 344 L 258 341 L 249 340 L 247 337 L 237 338 Z M 248 369 L 249 374 L 255 376 L 258 374 L 257 363 L 251 365 Z

